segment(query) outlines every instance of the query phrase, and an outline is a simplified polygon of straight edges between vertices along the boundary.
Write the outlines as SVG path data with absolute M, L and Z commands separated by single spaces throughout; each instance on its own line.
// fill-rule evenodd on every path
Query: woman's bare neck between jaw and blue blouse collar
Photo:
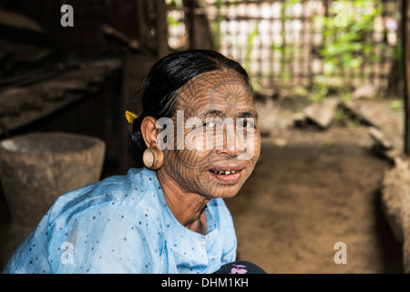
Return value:
M 208 226 L 205 210 L 210 199 L 199 193 L 182 190 L 163 169 L 157 171 L 157 177 L 169 210 L 179 223 L 191 231 L 206 235 Z

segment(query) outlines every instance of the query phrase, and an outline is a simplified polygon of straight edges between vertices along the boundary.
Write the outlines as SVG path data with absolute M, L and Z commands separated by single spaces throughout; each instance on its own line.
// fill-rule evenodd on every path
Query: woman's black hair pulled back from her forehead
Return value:
M 131 99 L 133 104 L 142 104 L 138 119 L 132 124 L 131 141 L 135 158 L 141 164 L 142 153 L 147 149 L 141 133 L 144 117 L 171 118 L 176 112 L 176 92 L 192 78 L 219 69 L 233 69 L 241 74 L 251 87 L 251 80 L 241 65 L 212 50 L 190 49 L 159 59 L 150 69 L 142 87 Z

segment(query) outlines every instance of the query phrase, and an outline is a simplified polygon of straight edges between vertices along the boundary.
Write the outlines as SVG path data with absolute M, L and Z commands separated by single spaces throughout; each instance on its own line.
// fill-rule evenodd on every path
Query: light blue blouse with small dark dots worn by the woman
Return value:
M 185 228 L 155 172 L 131 169 L 60 196 L 4 273 L 213 273 L 237 241 L 222 199 L 206 215 L 207 235 Z

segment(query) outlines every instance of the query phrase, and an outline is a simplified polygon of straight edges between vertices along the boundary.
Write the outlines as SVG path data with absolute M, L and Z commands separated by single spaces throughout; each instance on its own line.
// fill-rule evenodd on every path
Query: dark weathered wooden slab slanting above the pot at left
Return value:
M 120 68 L 119 59 L 97 60 L 30 87 L 5 89 L 0 93 L 0 136 L 86 97 Z

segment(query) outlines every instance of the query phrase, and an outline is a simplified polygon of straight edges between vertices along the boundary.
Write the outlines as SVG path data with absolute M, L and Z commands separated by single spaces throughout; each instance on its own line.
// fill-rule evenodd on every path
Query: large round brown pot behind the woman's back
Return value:
M 56 198 L 102 172 L 106 145 L 94 137 L 37 132 L 0 142 L 0 179 L 13 224 L 34 229 Z

